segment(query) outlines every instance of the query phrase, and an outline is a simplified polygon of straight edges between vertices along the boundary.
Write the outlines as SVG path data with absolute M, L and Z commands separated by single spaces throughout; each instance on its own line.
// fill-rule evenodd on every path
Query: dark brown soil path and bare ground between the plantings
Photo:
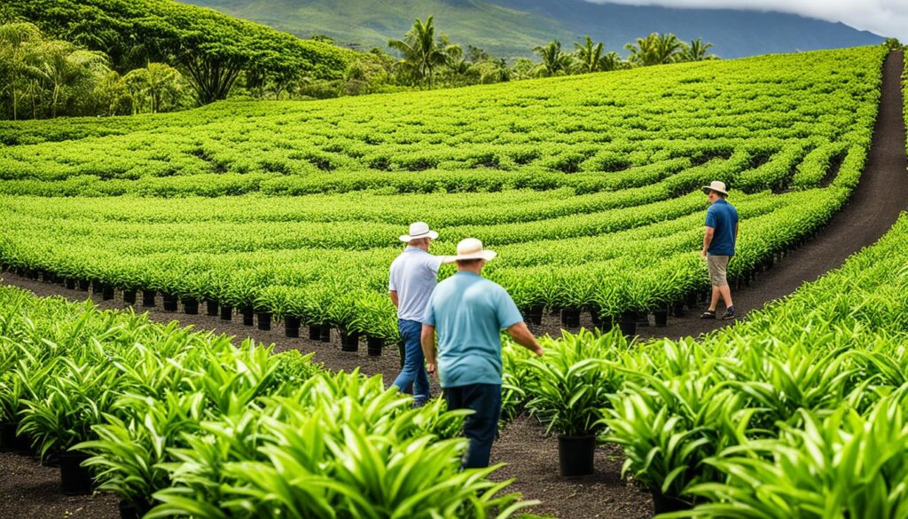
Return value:
M 769 301 L 791 294 L 804 282 L 812 281 L 837 268 L 849 255 L 876 242 L 893 225 L 899 213 L 908 208 L 908 174 L 906 174 L 908 162 L 904 153 L 905 128 L 900 84 L 902 71 L 902 53 L 889 55 L 883 67 L 883 95 L 873 130 L 873 146 L 861 183 L 850 203 L 833 218 L 830 225 L 814 241 L 786 255 L 749 287 L 735 291 L 735 306 L 739 311 L 759 309 Z M 2 275 L 5 284 L 31 290 L 37 295 L 63 295 L 74 301 L 83 301 L 91 296 L 96 304 L 107 309 L 122 309 L 128 306 L 120 298 L 102 301 L 100 295 L 67 290 L 57 284 L 44 284 L 14 274 Z M 398 371 L 399 357 L 394 347 L 386 348 L 380 357 L 367 356 L 365 344 L 360 346 L 360 352 L 343 353 L 336 336 L 332 336 L 330 344 L 313 342 L 305 338 L 288 339 L 283 336 L 280 325 L 275 326 L 270 332 L 262 332 L 243 326 L 242 318 L 239 316 L 234 316 L 231 322 L 224 322 L 218 317 L 203 314 L 163 312 L 160 298 L 157 303 L 154 308 L 138 307 L 137 311 L 147 310 L 155 321 L 178 320 L 182 324 L 192 324 L 200 330 L 214 330 L 237 337 L 249 336 L 257 341 L 277 344 L 278 350 L 292 348 L 304 353 L 315 352 L 315 359 L 331 369 L 351 370 L 360 367 L 366 374 L 383 374 L 389 383 Z M 588 315 L 584 315 L 581 324 L 591 327 Z M 729 323 L 702 321 L 694 313 L 688 312 L 686 317 L 670 319 L 667 327 L 650 326 L 639 328 L 638 331 L 642 337 L 679 337 L 702 334 L 726 324 Z M 533 328 L 537 333 L 560 333 L 558 318 L 554 315 L 546 316 L 541 326 Z M 597 451 L 597 474 L 577 481 L 565 481 L 558 476 L 557 442 L 542 433 L 542 428 L 538 424 L 525 418 L 518 419 L 501 434 L 493 451 L 493 462 L 508 463 L 502 475 L 518 478 L 513 489 L 523 492 L 528 499 L 539 499 L 545 503 L 540 512 L 572 519 L 609 517 L 634 519 L 652 514 L 649 496 L 621 480 L 619 451 L 610 447 L 600 448 Z M 20 466 L 15 464 L 15 459 L 3 458 L 0 461 L 4 462 L 0 466 L 5 464 Z M 26 472 L 34 472 L 34 467 L 30 464 L 34 462 L 24 459 L 20 468 Z M 15 496 L 25 495 L 22 493 L 28 489 L 45 485 L 48 477 L 53 479 L 55 470 L 44 467 L 41 477 L 37 479 L 0 478 L 0 497 L 3 497 L 7 504 L 10 504 L 8 501 L 10 497 L 14 503 L 22 502 L 22 499 L 16 500 Z M 110 498 L 105 496 L 85 497 L 82 498 L 82 502 L 75 500 L 66 503 L 60 503 L 51 496 L 44 496 L 35 503 L 40 505 L 44 513 L 40 516 L 55 517 L 65 509 L 73 510 L 80 506 L 97 507 L 98 500 L 110 503 Z M 13 507 L 15 508 L 15 505 Z M 110 510 L 109 504 L 100 507 L 104 512 L 91 514 L 92 517 L 99 519 L 116 517 L 113 512 L 107 512 Z M 23 504 L 21 508 L 16 508 L 18 512 L 15 512 L 15 516 L 39 516 L 35 515 L 38 512 L 33 508 L 32 503 Z M 0 508 L 0 511 L 7 512 L 5 507 Z

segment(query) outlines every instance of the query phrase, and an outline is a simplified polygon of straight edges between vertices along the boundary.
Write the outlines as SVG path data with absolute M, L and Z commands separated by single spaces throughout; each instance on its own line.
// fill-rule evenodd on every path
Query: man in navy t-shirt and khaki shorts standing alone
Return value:
M 725 315 L 723 319 L 735 318 L 735 304 L 732 303 L 732 291 L 728 287 L 725 270 L 728 260 L 735 255 L 737 242 L 738 215 L 734 205 L 729 204 L 725 198 L 728 192 L 725 183 L 714 181 L 703 188 L 709 196 L 710 205 L 706 211 L 706 233 L 703 235 L 703 251 L 700 253 L 709 266 L 709 280 L 713 284 L 713 298 L 709 309 L 701 315 L 704 319 L 716 318 L 716 306 L 721 297 L 725 301 Z

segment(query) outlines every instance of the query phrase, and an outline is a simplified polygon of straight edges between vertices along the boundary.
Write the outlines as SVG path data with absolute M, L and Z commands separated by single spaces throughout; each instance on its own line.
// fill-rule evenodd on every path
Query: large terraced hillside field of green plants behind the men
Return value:
M 648 312 L 706 288 L 700 185 L 725 181 L 747 221 L 735 276 L 845 204 L 883 56 L 7 125 L 0 258 L 395 341 L 387 267 L 425 219 L 437 254 L 467 235 L 498 250 L 489 277 L 525 311 Z

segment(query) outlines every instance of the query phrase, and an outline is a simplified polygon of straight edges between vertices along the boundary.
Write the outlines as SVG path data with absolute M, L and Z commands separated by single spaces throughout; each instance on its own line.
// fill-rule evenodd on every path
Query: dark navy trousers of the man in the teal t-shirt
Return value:
M 448 409 L 472 409 L 463 423 L 463 435 L 469 439 L 460 470 L 489 466 L 492 442 L 498 435 L 501 415 L 501 385 L 469 384 L 445 388 Z

